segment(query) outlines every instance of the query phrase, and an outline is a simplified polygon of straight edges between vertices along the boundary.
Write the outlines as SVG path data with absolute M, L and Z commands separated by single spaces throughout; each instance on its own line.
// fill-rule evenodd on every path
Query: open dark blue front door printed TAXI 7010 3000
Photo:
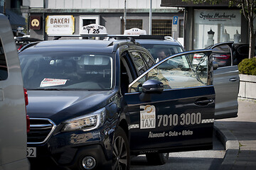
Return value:
M 132 154 L 212 149 L 215 91 L 211 50 L 166 57 L 124 94 Z M 196 71 L 191 58 L 202 55 Z

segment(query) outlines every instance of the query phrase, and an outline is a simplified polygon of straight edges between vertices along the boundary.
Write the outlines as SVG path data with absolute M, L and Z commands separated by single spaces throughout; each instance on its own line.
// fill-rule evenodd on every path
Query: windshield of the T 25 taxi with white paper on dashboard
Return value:
M 21 52 L 19 58 L 28 90 L 112 89 L 112 54 Z

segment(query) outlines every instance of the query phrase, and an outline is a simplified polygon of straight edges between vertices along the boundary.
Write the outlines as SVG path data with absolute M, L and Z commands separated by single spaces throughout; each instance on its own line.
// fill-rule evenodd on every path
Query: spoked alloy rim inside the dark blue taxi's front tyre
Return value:
M 127 147 L 122 137 L 114 140 L 112 169 L 127 169 Z

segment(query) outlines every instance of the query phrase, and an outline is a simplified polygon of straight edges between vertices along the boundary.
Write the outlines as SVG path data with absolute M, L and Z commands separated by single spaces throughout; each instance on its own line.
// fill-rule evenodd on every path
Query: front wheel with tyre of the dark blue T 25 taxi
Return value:
M 129 142 L 122 128 L 114 133 L 112 170 L 126 170 L 130 166 Z

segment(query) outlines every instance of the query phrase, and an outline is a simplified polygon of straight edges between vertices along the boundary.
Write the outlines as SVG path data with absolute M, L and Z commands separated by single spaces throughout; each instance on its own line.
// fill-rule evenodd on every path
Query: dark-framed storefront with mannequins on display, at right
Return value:
M 196 50 L 218 42 L 248 43 L 248 24 L 240 8 L 219 4 L 193 4 L 182 0 L 161 0 L 161 6 L 184 8 L 184 47 Z

